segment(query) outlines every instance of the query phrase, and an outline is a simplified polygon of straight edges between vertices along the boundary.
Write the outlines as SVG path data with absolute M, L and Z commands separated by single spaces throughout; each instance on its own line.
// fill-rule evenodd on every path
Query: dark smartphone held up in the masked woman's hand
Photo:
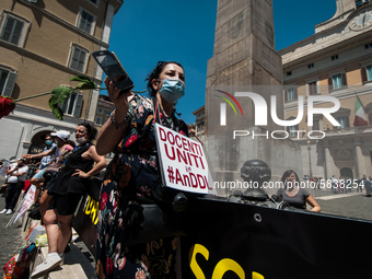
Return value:
M 126 93 L 135 88 L 133 82 L 113 51 L 97 50 L 93 51 L 92 56 L 121 93 Z M 119 79 L 117 79 L 118 77 Z

